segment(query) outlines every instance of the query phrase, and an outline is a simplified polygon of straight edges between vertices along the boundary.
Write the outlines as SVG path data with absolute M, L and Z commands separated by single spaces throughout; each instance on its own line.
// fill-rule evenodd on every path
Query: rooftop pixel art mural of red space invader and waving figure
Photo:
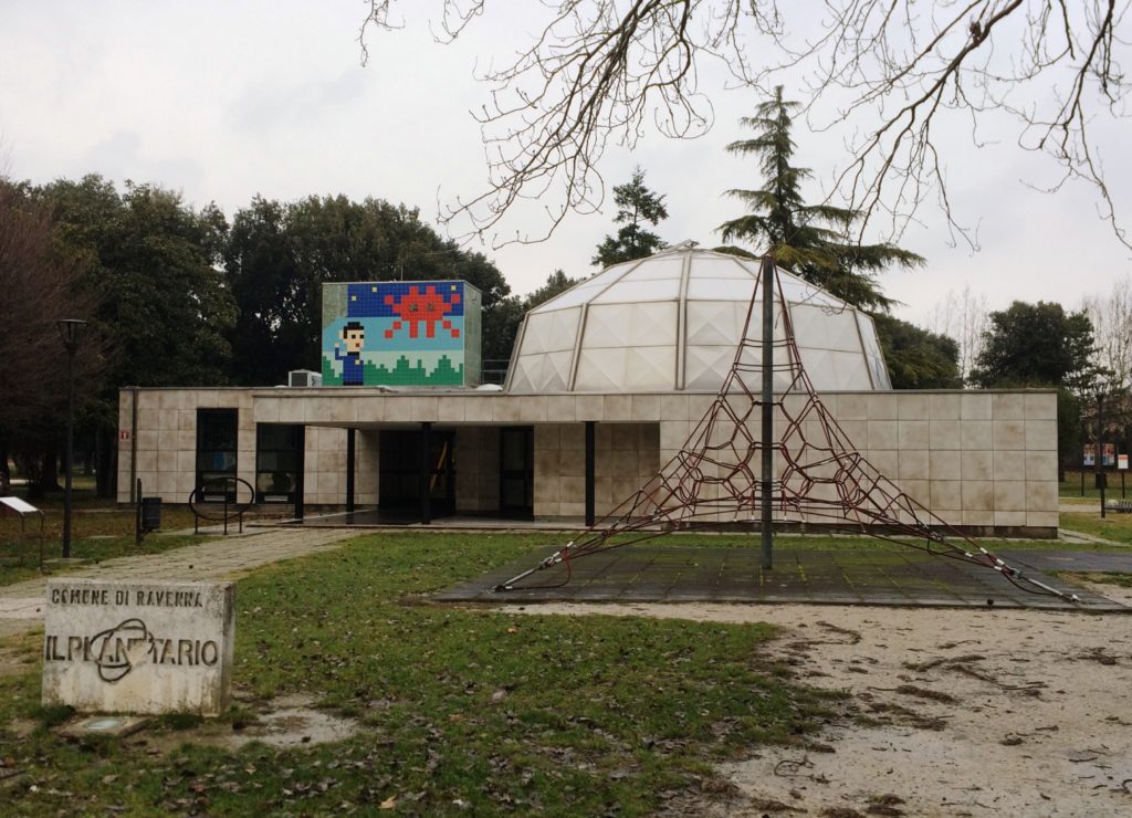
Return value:
M 323 285 L 323 384 L 477 386 L 480 291 L 468 282 Z

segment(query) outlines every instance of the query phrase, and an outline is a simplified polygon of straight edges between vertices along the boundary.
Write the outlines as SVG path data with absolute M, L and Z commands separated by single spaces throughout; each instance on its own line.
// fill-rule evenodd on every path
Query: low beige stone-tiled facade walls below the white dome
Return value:
M 260 502 L 293 505 L 301 490 L 307 505 L 352 500 L 414 519 L 422 472 L 432 471 L 432 519 L 582 523 L 588 492 L 593 515 L 611 510 L 679 450 L 714 397 L 123 389 L 118 499 L 129 502 L 139 479 L 146 496 L 183 503 L 204 480 L 232 474 Z M 873 465 L 942 519 L 1056 535 L 1056 393 L 847 391 L 822 402 Z

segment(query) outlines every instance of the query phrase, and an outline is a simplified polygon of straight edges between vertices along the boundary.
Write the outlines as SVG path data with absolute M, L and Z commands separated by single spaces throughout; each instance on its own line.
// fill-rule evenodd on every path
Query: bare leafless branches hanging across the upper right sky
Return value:
M 506 14 L 488 0 L 436 2 L 441 41 Z M 899 234 L 934 195 L 967 236 L 952 214 L 940 130 L 958 117 L 981 144 L 1006 115 L 1022 148 L 1058 166 L 1058 181 L 1045 188 L 1090 182 L 1101 216 L 1127 244 L 1092 129 L 1098 118 L 1127 113 L 1120 58 L 1130 2 L 543 0 L 541 33 L 482 72 L 489 101 L 475 115 L 489 186 L 446 219 L 469 217 L 474 232 L 498 241 L 500 218 L 523 199 L 547 208 L 550 231 L 571 210 L 592 210 L 604 195 L 595 164 L 610 144 L 632 147 L 650 124 L 671 137 L 712 126 L 700 78 L 718 58 L 763 93 L 804 78 L 812 127 L 844 140 L 830 195 L 863 210 L 860 232 L 887 222 Z M 397 26 L 396 5 L 369 0 L 363 60 L 370 29 Z

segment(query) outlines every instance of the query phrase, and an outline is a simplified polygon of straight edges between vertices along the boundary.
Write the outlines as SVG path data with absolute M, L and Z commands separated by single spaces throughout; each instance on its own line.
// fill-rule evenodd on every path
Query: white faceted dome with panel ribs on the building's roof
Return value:
M 684 244 L 609 267 L 526 313 L 507 390 L 715 391 L 735 360 L 758 267 Z M 868 315 L 784 269 L 779 279 L 815 389 L 892 388 Z M 756 304 L 754 337 L 760 315 Z M 781 307 L 774 325 L 783 337 Z

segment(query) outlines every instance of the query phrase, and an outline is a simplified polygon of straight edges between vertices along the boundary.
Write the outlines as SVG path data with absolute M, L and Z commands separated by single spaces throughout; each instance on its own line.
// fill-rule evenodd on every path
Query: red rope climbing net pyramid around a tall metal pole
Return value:
M 538 566 L 496 587 L 560 587 L 574 559 L 663 536 L 672 531 L 758 523 L 769 492 L 775 525 L 818 525 L 823 531 L 864 534 L 998 571 L 1019 588 L 1065 594 L 1024 575 L 933 514 L 871 464 L 824 406 L 801 363 L 790 310 L 777 268 L 774 276 L 773 479 L 760 477 L 764 449 L 756 431 L 762 413 L 762 321 L 756 282 L 731 369 L 719 394 L 684 446 L 661 470 L 604 518 Z M 548 569 L 539 583 L 534 575 Z

